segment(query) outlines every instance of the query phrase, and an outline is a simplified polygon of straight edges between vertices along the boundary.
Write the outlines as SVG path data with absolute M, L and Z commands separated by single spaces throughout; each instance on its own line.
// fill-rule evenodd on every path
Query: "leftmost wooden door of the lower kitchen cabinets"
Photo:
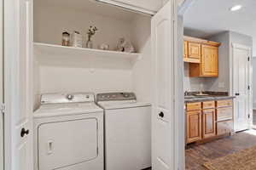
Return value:
M 201 139 L 201 111 L 187 112 L 187 143 Z

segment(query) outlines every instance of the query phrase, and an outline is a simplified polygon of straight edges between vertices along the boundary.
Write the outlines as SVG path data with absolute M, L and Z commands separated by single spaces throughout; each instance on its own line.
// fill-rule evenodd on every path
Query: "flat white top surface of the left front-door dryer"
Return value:
M 94 102 L 89 103 L 72 103 L 72 104 L 49 104 L 41 105 L 38 111 L 34 112 L 33 117 L 50 117 L 50 116 L 70 116 L 81 115 L 103 111 Z

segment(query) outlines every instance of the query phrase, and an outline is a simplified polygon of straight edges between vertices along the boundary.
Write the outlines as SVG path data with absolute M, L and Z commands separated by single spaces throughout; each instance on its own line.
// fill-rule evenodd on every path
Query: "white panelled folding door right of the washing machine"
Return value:
M 174 53 L 172 1 L 152 19 L 154 102 L 152 113 L 152 167 L 174 169 Z

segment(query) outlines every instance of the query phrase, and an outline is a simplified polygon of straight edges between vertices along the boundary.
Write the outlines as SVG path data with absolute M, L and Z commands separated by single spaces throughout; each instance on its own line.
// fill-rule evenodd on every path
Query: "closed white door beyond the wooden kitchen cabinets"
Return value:
M 233 95 L 236 95 L 235 131 L 249 128 L 249 99 L 250 99 L 250 54 L 251 49 L 233 44 Z

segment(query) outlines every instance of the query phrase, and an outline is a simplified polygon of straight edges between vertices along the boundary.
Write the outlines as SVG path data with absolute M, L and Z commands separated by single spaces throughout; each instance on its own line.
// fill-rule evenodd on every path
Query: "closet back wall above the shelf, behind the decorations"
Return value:
M 96 26 L 99 30 L 92 37 L 94 48 L 98 48 L 102 43 L 108 43 L 113 49 L 120 37 L 126 39 L 131 37 L 131 24 L 127 20 L 114 19 L 108 15 L 86 13 L 86 10 L 67 8 L 66 6 L 58 7 L 35 3 L 34 42 L 61 45 L 63 31 L 70 33 L 79 31 L 83 35 L 85 43 L 87 40 L 86 32 L 90 26 Z

